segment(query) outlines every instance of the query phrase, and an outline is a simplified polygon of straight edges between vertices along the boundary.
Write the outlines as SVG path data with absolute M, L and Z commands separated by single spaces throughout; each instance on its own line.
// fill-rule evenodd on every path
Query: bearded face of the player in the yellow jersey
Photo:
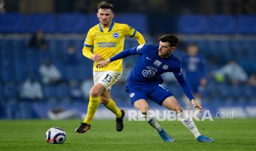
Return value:
M 99 9 L 97 13 L 97 17 L 99 18 L 101 25 L 104 27 L 110 27 L 114 15 L 115 14 L 111 9 Z

